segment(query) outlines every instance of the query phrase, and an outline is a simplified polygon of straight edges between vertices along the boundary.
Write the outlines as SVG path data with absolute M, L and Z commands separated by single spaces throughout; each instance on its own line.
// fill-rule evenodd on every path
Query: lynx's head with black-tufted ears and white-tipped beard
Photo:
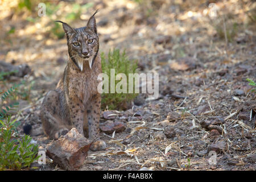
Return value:
M 86 27 L 72 28 L 67 23 L 60 22 L 63 25 L 65 35 L 68 41 L 69 57 L 75 63 L 76 67 L 82 71 L 84 63 L 89 64 L 92 69 L 94 60 L 98 54 L 99 40 L 94 15 L 89 18 Z

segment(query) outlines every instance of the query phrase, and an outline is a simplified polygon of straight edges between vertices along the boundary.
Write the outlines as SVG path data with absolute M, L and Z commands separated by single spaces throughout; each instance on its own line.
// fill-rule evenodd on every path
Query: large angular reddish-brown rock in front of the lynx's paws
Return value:
M 90 144 L 90 140 L 73 128 L 66 135 L 48 144 L 46 155 L 61 168 L 75 170 L 84 163 Z

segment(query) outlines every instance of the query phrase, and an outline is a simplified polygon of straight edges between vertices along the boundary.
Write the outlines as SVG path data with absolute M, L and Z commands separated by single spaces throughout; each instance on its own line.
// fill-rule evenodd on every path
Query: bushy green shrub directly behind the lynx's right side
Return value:
M 101 64 L 102 72 L 106 73 L 109 77 L 109 93 L 102 93 L 102 109 L 108 107 L 108 109 L 123 110 L 127 109 L 129 102 L 131 102 L 138 94 L 136 93 L 110 93 L 110 69 L 115 69 L 115 76 L 118 73 L 124 73 L 127 77 L 127 82 L 129 82 L 129 73 L 137 72 L 137 62 L 134 60 L 129 60 L 126 56 L 125 51 L 120 53 L 119 49 L 114 49 L 109 51 L 108 58 L 105 54 L 101 53 Z M 115 85 L 117 84 L 115 80 Z M 135 84 L 133 85 L 135 88 Z

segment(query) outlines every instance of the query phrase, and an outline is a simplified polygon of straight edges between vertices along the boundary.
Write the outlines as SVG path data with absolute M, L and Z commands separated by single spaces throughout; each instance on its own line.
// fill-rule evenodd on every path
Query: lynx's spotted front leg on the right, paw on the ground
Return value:
M 90 150 L 104 150 L 106 148 L 106 143 L 100 140 L 100 111 L 101 111 L 101 95 L 96 94 L 92 97 L 92 100 L 89 101 L 87 107 L 87 119 L 88 119 L 88 128 L 89 128 L 89 139 L 93 140 Z

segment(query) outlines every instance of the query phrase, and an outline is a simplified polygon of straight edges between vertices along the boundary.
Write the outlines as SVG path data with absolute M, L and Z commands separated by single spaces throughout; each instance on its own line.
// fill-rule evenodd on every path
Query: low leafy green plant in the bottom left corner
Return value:
M 11 115 L 0 119 L 0 170 L 30 168 L 30 165 L 40 156 L 38 146 L 31 144 L 32 138 L 24 135 L 22 140 L 13 137 L 16 119 L 11 120 Z

